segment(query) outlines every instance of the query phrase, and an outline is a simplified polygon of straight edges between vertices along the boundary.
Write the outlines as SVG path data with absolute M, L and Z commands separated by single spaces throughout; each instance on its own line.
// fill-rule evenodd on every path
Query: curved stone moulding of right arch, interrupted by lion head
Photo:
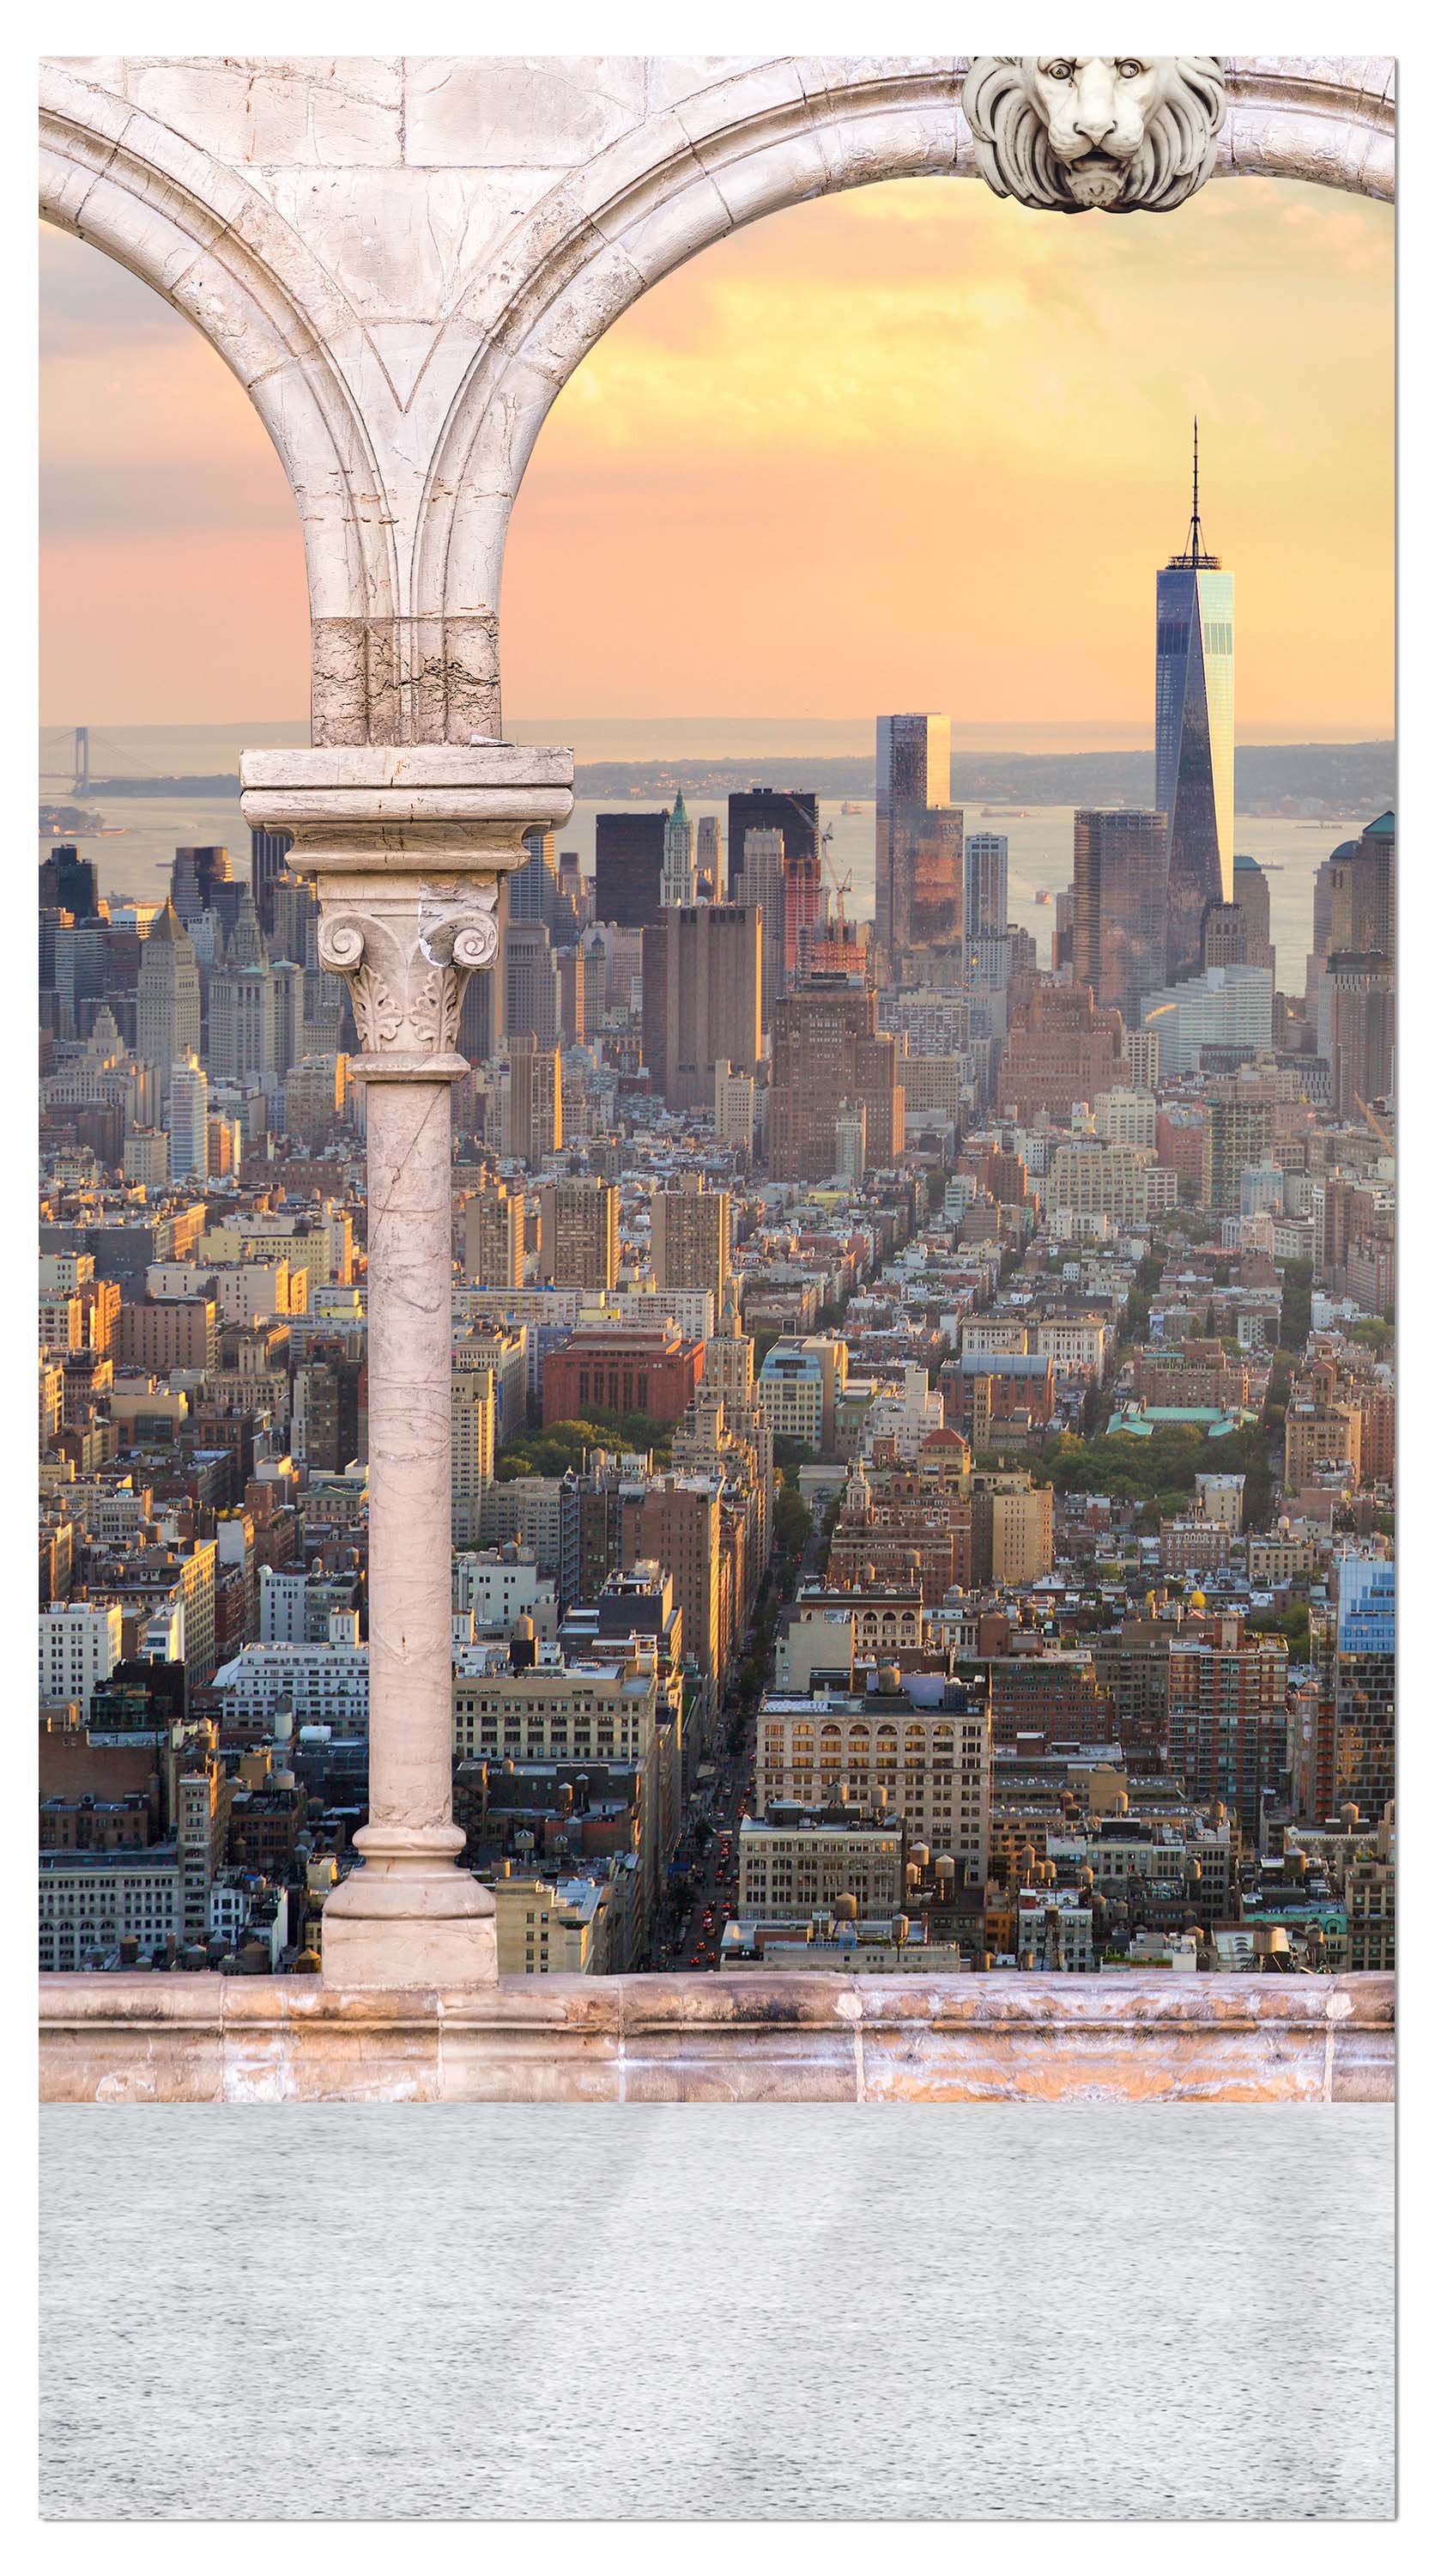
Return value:
M 649 286 L 739 224 L 884 178 L 974 178 L 966 57 L 775 59 L 719 80 L 595 155 L 505 245 L 461 309 L 477 332 L 415 531 L 415 605 L 464 672 L 446 739 L 497 685 L 508 520 L 538 430 L 603 332 Z M 1394 64 L 1226 59 L 1216 178 L 1301 178 L 1394 196 Z M 1036 216 L 1033 216 L 1036 222 Z M 474 654 L 479 644 L 479 654 Z M 438 711 L 435 711 L 438 714 Z

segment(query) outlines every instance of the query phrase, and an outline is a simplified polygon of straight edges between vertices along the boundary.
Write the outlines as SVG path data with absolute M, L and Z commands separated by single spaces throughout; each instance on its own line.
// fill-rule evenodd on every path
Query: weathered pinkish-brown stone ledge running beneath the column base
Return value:
M 1389 2102 L 1394 1976 L 41 1976 L 44 2102 Z

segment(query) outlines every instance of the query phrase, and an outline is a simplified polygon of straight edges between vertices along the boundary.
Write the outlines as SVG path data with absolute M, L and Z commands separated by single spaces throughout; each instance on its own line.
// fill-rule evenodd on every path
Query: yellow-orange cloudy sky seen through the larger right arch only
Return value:
M 595 708 L 600 626 L 611 711 L 866 690 L 1149 724 L 1201 410 L 1242 706 L 1386 721 L 1391 322 L 1389 209 L 1322 191 L 1221 185 L 1172 224 L 930 180 L 791 209 L 649 291 L 554 404 L 510 538 L 508 703 Z

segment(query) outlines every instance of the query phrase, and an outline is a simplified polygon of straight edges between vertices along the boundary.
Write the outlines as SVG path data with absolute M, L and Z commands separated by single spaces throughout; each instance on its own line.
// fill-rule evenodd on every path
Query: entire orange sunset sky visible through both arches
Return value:
M 505 716 L 1152 734 L 1154 572 L 1237 572 L 1237 732 L 1394 708 L 1394 216 L 1275 180 L 1172 216 L 974 183 L 796 206 L 623 314 L 518 500 Z M 41 229 L 41 721 L 307 708 L 294 507 L 237 381 Z

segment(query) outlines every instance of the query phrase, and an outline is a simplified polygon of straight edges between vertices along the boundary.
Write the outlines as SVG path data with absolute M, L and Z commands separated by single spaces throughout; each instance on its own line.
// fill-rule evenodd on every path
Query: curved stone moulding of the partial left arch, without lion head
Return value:
M 332 283 L 234 170 L 54 64 L 39 211 L 185 314 L 255 404 L 304 533 L 314 742 L 399 739 L 392 518 L 330 355 L 343 330 Z

